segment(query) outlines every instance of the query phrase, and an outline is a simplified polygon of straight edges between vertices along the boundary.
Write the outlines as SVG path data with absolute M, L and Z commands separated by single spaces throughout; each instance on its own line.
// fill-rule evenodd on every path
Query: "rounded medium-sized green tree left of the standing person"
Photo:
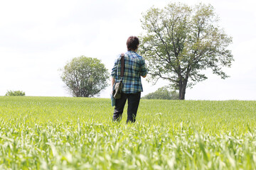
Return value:
M 62 69 L 61 79 L 75 97 L 92 97 L 107 86 L 109 73 L 96 58 L 75 57 Z

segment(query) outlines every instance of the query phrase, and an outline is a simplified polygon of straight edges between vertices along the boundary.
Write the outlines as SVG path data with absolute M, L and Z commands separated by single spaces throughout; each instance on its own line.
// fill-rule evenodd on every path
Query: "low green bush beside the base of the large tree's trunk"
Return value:
M 164 99 L 164 100 L 178 100 L 178 93 L 176 91 L 169 91 L 166 86 L 157 89 L 155 92 L 147 94 L 142 97 L 144 99 Z

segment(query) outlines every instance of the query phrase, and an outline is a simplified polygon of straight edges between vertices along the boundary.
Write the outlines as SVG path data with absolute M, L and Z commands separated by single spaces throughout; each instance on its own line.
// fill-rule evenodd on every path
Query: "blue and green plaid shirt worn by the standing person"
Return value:
M 121 80 L 121 55 L 114 61 L 111 76 L 116 82 Z M 122 92 L 124 94 L 136 94 L 142 89 L 141 76 L 146 76 L 147 69 L 145 60 L 136 52 L 128 51 L 124 54 L 124 78 L 122 80 L 124 86 Z

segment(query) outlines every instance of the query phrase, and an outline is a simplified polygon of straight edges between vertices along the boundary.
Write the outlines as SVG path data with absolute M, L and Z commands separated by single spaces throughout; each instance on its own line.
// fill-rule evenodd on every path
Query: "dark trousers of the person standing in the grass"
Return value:
M 124 106 L 128 100 L 127 123 L 134 123 L 139 107 L 140 96 L 141 92 L 138 92 L 137 94 L 122 94 L 121 98 L 116 99 L 113 121 L 119 121 L 122 119 Z

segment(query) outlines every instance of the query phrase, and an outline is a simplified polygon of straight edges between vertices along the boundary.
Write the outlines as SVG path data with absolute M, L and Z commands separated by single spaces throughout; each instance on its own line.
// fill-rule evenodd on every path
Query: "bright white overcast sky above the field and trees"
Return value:
M 21 90 L 26 96 L 70 96 L 60 71 L 73 59 L 97 57 L 111 70 L 117 54 L 126 51 L 129 35 L 142 33 L 142 12 L 164 7 L 164 0 L 0 0 L 0 96 Z M 174 2 L 174 0 L 172 1 Z M 181 1 L 189 5 L 200 1 Z M 186 99 L 256 100 L 256 1 L 208 0 L 220 27 L 233 37 L 228 47 L 235 62 L 230 78 L 211 72 L 187 89 Z M 143 81 L 142 96 L 166 85 Z M 100 97 L 108 98 L 111 87 Z

